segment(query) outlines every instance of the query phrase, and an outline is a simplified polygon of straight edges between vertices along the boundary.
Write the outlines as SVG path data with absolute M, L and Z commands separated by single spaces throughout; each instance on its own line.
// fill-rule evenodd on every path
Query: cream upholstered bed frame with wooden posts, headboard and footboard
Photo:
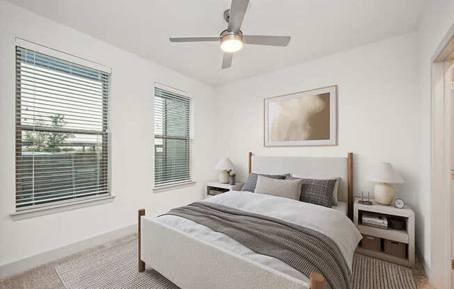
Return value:
M 339 198 L 348 202 L 348 216 L 353 213 L 353 154 L 347 158 L 290 158 L 256 157 L 249 152 L 249 173 L 260 170 L 272 171 L 292 169 L 302 162 L 306 170 L 325 172 L 323 166 L 330 165 L 330 177 L 346 178 L 344 190 L 339 188 Z M 334 167 L 334 168 L 333 168 Z M 339 167 L 341 174 L 335 174 Z M 345 172 L 344 172 L 345 171 Z M 287 171 L 288 172 L 288 171 Z M 304 173 L 295 171 L 295 173 Z M 320 176 L 320 174 L 318 174 Z M 198 240 L 169 226 L 145 216 L 145 209 L 139 210 L 139 272 L 145 264 L 165 276 L 182 289 L 200 288 L 260 288 L 260 289 L 324 289 L 321 274 L 311 273 L 309 283 L 283 274 L 270 267 L 251 261 L 226 249 Z M 214 286 L 215 284 L 215 286 Z

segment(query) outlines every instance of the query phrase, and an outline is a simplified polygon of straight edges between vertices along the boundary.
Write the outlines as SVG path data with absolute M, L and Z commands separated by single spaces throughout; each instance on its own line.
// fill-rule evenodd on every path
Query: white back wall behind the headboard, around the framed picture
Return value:
M 418 244 L 425 250 L 421 195 L 421 103 L 418 92 L 416 33 L 217 88 L 223 124 L 218 147 L 244 179 L 247 152 L 267 156 L 347 156 L 354 152 L 354 194 L 373 192 L 367 174 L 389 161 L 405 179 L 396 197 L 416 209 Z M 263 99 L 290 92 L 338 85 L 338 145 L 335 147 L 263 147 Z M 427 178 L 427 176 L 425 176 Z

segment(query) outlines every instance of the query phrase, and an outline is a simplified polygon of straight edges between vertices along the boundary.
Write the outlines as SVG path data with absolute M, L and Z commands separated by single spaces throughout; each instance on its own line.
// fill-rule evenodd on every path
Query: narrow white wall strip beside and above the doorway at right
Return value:
M 432 215 L 434 212 L 430 210 L 431 200 L 434 197 L 433 194 L 437 192 L 431 192 L 430 183 L 430 153 L 431 149 L 431 58 L 435 53 L 435 50 L 439 46 L 441 40 L 451 28 L 454 23 L 454 1 L 452 0 L 431 0 L 427 1 L 425 8 L 423 9 L 423 15 L 421 15 L 421 22 L 418 28 L 418 70 L 419 70 L 419 97 L 421 103 L 421 117 L 423 123 L 421 127 L 421 145 L 423 147 L 422 168 L 421 170 L 421 190 L 418 191 L 416 196 L 416 208 L 418 208 L 418 219 L 420 220 L 417 224 L 418 228 L 424 230 L 424 239 L 420 240 L 423 243 L 425 251 L 425 261 L 428 262 L 429 267 L 431 266 L 431 258 L 428 253 L 431 250 L 437 250 L 441 248 L 431 247 L 431 222 Z M 422 225 L 422 226 L 421 226 Z M 439 252 L 443 254 L 443 252 Z M 446 266 L 447 264 L 444 264 Z M 444 271 L 444 268 L 439 268 L 437 271 Z M 430 276 L 432 281 L 443 280 L 442 276 Z M 437 285 L 437 283 L 435 283 Z

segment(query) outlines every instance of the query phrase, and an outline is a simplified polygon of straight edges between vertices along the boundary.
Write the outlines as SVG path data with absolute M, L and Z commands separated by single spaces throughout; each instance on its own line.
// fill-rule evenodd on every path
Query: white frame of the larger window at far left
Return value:
M 17 49 L 27 49 L 32 51 L 33 53 L 39 53 L 43 56 L 47 56 L 50 58 L 58 58 L 58 60 L 63 60 L 64 62 L 74 63 L 77 66 L 86 67 L 87 69 L 93 69 L 95 71 L 101 72 L 103 74 L 107 74 L 106 84 L 102 84 L 102 106 L 100 106 L 102 110 L 102 119 L 106 119 L 105 122 L 102 122 L 102 129 L 101 131 L 90 131 L 88 129 L 68 129 L 68 128 L 38 128 L 38 131 L 46 131 L 46 132 L 55 132 L 55 133 L 80 133 L 84 135 L 100 135 L 100 145 L 102 147 L 101 151 L 101 162 L 104 163 L 102 167 L 100 167 L 100 171 L 102 172 L 102 183 L 106 184 L 107 192 L 99 193 L 93 192 L 93 195 L 87 196 L 77 196 L 75 195 L 74 198 L 65 198 L 65 199 L 55 199 L 48 202 L 42 201 L 42 204 L 33 204 L 31 206 L 20 206 L 17 199 L 17 193 L 22 192 L 21 183 L 17 180 L 18 174 L 18 167 L 17 167 L 17 160 L 18 157 L 22 157 L 22 131 L 30 131 L 29 129 L 24 129 L 26 124 L 22 123 L 22 86 L 20 85 L 22 81 L 22 73 L 17 73 L 17 65 L 22 63 L 22 61 L 17 59 Z M 114 199 L 114 195 L 112 194 L 111 190 L 111 119 L 110 119 L 110 99 L 111 99 L 111 67 L 107 67 L 104 65 L 100 65 L 99 63 L 94 63 L 91 60 L 86 60 L 84 58 L 79 58 L 77 56 L 73 56 L 68 53 L 64 53 L 62 51 L 58 51 L 49 47 L 42 46 L 40 44 L 36 44 L 33 42 L 29 42 L 27 40 L 23 40 L 22 38 L 15 38 L 15 45 L 14 45 L 14 55 L 15 55 L 15 198 L 13 208 L 14 211 L 11 213 L 13 217 L 17 215 L 36 215 L 36 212 L 45 212 L 49 211 L 60 211 L 61 208 L 65 206 L 71 206 L 74 208 L 84 207 L 84 206 L 92 206 L 93 204 L 104 204 L 107 201 L 111 201 Z M 33 126 L 33 130 L 36 131 L 36 127 Z M 20 135 L 20 138 L 19 138 Z M 34 182 L 34 180 L 33 180 Z M 19 207 L 18 207 L 19 206 Z M 70 208 L 72 209 L 72 208 Z M 43 215 L 44 213 L 38 213 L 38 215 Z

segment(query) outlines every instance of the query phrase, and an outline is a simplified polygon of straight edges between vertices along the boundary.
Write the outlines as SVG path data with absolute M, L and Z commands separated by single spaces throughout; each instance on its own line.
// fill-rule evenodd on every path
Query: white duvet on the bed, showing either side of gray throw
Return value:
M 204 201 L 229 206 L 250 213 L 276 217 L 319 231 L 336 242 L 345 258 L 347 267 L 350 270 L 352 268 L 354 250 L 359 240 L 361 240 L 361 234 L 352 221 L 338 210 L 295 201 L 293 199 L 255 194 L 252 192 L 225 192 L 224 194 L 210 197 Z M 157 217 L 155 222 L 166 224 L 194 238 L 210 242 L 212 245 L 222 247 L 235 254 L 249 258 L 252 261 L 272 267 L 274 270 L 308 282 L 307 276 L 304 276 L 304 274 L 285 264 L 283 261 L 271 256 L 258 254 L 224 235 L 224 233 L 217 233 L 191 220 L 174 215 L 164 215 Z

